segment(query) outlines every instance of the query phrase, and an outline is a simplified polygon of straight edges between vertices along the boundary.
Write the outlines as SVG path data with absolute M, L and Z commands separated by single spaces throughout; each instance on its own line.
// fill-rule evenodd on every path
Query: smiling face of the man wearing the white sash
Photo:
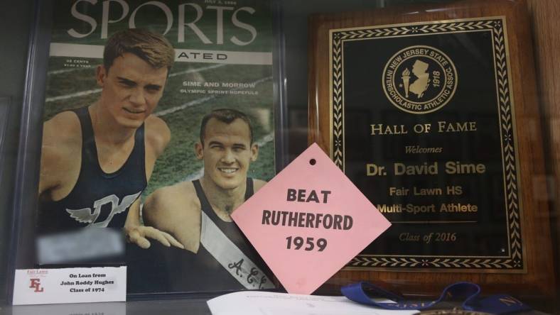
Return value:
M 210 118 L 203 138 L 204 144 L 195 145 L 195 153 L 204 162 L 204 176 L 222 189 L 244 184 L 249 163 L 257 160 L 259 153 L 259 147 L 251 145 L 247 123 L 239 118 L 232 123 Z

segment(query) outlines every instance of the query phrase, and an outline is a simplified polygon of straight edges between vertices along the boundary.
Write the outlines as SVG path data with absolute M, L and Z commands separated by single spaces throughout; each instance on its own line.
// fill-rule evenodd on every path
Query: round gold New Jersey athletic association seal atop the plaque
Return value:
M 411 46 L 389 59 L 382 85 L 385 95 L 398 109 L 426 114 L 451 100 L 457 89 L 457 70 L 441 50 Z

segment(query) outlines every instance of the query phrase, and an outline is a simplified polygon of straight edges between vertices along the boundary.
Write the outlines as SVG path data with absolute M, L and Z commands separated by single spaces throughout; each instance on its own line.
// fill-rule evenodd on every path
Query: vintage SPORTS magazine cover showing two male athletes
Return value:
M 52 3 L 39 265 L 119 253 L 61 245 L 97 227 L 131 294 L 274 287 L 230 218 L 275 175 L 269 1 Z

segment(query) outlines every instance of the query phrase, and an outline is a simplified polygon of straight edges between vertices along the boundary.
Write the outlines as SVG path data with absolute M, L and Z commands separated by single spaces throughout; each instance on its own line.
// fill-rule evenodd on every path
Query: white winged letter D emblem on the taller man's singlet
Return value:
M 109 222 L 113 219 L 116 214 L 120 214 L 126 209 L 131 206 L 134 201 L 140 196 L 141 192 L 137 192 L 136 194 L 131 194 L 126 196 L 122 199 L 122 202 L 119 203 L 119 197 L 114 194 L 111 194 L 107 197 L 103 197 L 93 203 L 93 213 L 91 208 L 84 208 L 84 209 L 66 209 L 66 212 L 70 214 L 72 219 L 80 223 L 87 223 L 87 226 L 90 227 L 98 227 L 98 228 L 106 228 L 109 226 Z M 111 204 L 111 212 L 107 216 L 107 219 L 101 222 L 96 222 L 99 214 L 101 214 L 101 208 L 105 204 Z

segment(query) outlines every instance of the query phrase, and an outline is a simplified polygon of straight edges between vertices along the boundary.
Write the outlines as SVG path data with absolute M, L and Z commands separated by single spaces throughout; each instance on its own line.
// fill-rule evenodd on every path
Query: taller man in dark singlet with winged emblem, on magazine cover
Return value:
M 173 65 L 173 46 L 140 29 L 114 33 L 97 67 L 99 99 L 43 124 L 38 228 L 124 228 L 129 241 L 177 245 L 168 233 L 140 223 L 139 196 L 169 143 L 166 123 L 152 113 Z

